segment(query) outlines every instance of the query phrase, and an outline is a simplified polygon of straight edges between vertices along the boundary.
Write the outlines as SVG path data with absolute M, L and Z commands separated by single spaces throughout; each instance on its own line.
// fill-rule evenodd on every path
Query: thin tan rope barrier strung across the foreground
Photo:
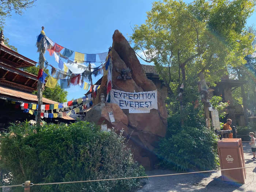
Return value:
M 151 176 L 140 176 L 140 177 L 123 177 L 123 178 L 97 179 L 97 180 L 86 180 L 86 181 L 67 181 L 67 182 L 52 182 L 52 183 L 38 183 L 38 184 L 31 183 L 30 186 L 34 186 L 34 185 L 56 185 L 56 184 L 68 184 L 68 183 L 80 183 L 80 182 L 95 182 L 95 181 L 113 181 L 113 180 L 122 180 L 122 179 L 149 178 L 149 177 L 163 177 L 163 176 L 174 176 L 174 175 L 193 174 L 193 173 L 208 173 L 208 172 L 226 171 L 226 170 L 234 170 L 234 169 L 248 169 L 248 168 L 255 168 L 255 167 L 256 166 L 238 167 L 238 168 L 231 168 L 231 169 L 217 169 L 217 170 L 208 170 L 208 171 L 200 171 L 200 172 L 173 173 L 173 174 L 151 175 Z M 22 187 L 23 185 L 24 184 L 0 186 L 0 188 Z

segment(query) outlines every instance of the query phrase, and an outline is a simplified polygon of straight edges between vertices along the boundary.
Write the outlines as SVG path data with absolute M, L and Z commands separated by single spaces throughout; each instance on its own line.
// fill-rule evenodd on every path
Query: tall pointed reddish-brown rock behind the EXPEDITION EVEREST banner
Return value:
M 155 84 L 147 79 L 134 50 L 118 30 L 113 34 L 112 61 L 113 89 L 126 92 L 153 91 L 157 89 Z M 127 67 L 131 68 L 131 74 L 129 76 L 132 79 L 127 79 L 126 81 L 116 79 L 120 75 L 117 69 Z M 103 93 L 106 96 L 106 84 L 107 77 L 103 76 L 95 104 L 99 103 L 100 94 Z M 118 105 L 112 106 L 116 120 L 112 123 L 112 126 L 117 131 L 124 129 L 124 136 L 129 139 L 135 160 L 146 168 L 153 167 L 157 161 L 154 150 L 157 147 L 159 138 L 164 137 L 166 134 L 167 112 L 165 103 L 159 91 L 157 94 L 158 110 L 151 109 L 150 113 L 129 113 L 128 109 L 121 110 Z M 103 116 L 102 113 L 101 117 L 107 120 L 107 117 Z M 124 120 L 124 117 L 127 117 L 128 123 Z

